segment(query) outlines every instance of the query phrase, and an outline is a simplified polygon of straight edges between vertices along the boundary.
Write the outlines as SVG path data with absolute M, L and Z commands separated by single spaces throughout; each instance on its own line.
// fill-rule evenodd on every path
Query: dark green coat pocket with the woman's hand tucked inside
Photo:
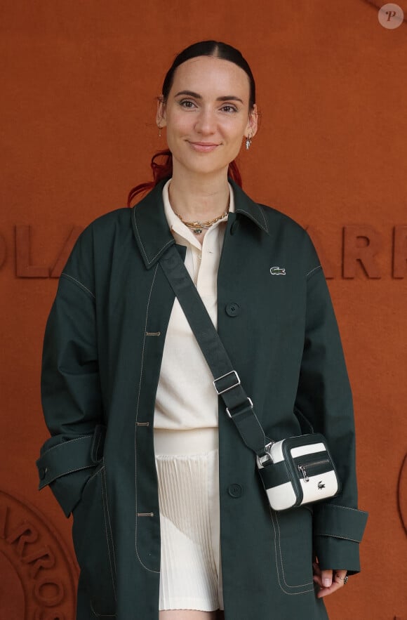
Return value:
M 89 478 L 74 508 L 72 538 L 81 569 L 81 581 L 96 616 L 116 612 L 116 567 L 102 463 Z

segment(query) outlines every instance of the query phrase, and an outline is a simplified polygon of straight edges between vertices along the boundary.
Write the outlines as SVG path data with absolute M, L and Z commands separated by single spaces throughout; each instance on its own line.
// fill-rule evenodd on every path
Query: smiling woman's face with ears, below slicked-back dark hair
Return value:
M 226 175 L 243 137 L 253 137 L 257 129 L 249 95 L 246 72 L 229 60 L 198 56 L 175 70 L 168 99 L 157 111 L 157 124 L 166 126 L 174 174 Z

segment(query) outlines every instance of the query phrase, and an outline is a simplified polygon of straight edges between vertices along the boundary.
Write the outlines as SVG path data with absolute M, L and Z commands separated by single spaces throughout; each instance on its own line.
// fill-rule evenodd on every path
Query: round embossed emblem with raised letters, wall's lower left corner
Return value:
M 78 570 L 37 508 L 0 491 L 0 618 L 74 620 Z

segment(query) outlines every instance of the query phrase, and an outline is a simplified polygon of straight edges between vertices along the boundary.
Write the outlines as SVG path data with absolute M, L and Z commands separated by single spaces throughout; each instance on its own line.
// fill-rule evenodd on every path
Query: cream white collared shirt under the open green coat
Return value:
M 187 247 L 185 267 L 192 277 L 206 310 L 217 327 L 217 278 L 227 216 L 211 226 L 202 245 L 175 215 L 168 197 L 169 180 L 163 189 L 164 211 L 177 244 Z M 229 211 L 234 197 L 229 185 Z M 189 430 L 218 427 L 218 395 L 213 376 L 180 303 L 175 298 L 168 323 L 154 411 L 154 430 Z

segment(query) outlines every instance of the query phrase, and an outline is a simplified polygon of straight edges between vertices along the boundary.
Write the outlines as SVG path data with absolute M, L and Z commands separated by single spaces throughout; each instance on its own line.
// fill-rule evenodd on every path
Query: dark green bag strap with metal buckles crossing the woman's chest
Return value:
M 159 262 L 211 369 L 215 379 L 213 385 L 225 402 L 227 415 L 234 421 L 246 446 L 257 456 L 265 456 L 267 437 L 253 409 L 253 402 L 243 390 L 239 375 L 174 244 Z

